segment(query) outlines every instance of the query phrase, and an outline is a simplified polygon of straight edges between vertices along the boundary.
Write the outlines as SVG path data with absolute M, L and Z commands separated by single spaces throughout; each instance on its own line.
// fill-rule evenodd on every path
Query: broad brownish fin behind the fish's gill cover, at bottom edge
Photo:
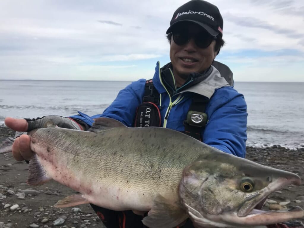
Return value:
M 168 201 L 163 196 L 157 195 L 148 216 L 144 217 L 142 221 L 145 226 L 150 228 L 172 228 L 178 226 L 187 218 L 187 212 L 178 203 Z

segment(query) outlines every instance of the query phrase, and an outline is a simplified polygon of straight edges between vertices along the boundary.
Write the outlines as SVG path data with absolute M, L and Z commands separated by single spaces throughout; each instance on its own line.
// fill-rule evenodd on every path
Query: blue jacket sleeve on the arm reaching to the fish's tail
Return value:
M 88 126 L 92 126 L 94 119 L 107 117 L 116 119 L 126 126 L 131 127 L 135 118 L 136 109 L 142 102 L 145 82 L 145 79 L 140 79 L 119 91 L 116 99 L 102 114 L 88 116 L 78 111 L 79 115 L 70 116 L 70 118 L 83 121 Z

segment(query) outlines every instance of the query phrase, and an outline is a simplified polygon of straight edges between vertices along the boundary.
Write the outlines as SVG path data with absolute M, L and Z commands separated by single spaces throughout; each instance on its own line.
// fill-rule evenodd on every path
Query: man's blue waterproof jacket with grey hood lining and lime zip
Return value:
M 211 67 L 211 73 L 207 78 L 181 92 L 175 88 L 176 94 L 170 97 L 161 77 L 159 62 L 157 63 L 153 84 L 160 94 L 161 125 L 184 131 L 183 121 L 186 119 L 193 93 L 203 95 L 210 99 L 205 111 L 208 123 L 201 133 L 203 142 L 226 153 L 245 157 L 247 105 L 244 96 L 233 88 L 232 72 L 226 65 L 214 61 Z M 140 79 L 121 90 L 102 114 L 88 116 L 78 112 L 79 115 L 71 116 L 71 118 L 92 126 L 95 118 L 108 117 L 132 127 L 136 108 L 142 103 L 145 82 L 146 79 Z M 171 109 L 168 108 L 169 106 Z M 165 119 L 166 115 L 167 119 Z

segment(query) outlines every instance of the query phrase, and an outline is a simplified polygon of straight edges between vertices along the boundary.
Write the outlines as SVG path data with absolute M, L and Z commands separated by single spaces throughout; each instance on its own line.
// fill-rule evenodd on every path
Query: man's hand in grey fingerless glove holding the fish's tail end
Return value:
M 46 127 L 47 121 L 51 120 L 55 125 L 62 128 L 84 130 L 85 124 L 81 126 L 76 121 L 62 116 L 44 116 L 36 119 L 14 119 L 7 117 L 4 123 L 7 127 L 15 131 L 28 132 L 36 128 Z M 29 161 L 34 152 L 30 149 L 30 138 L 24 134 L 17 137 L 12 144 L 12 154 L 17 161 Z

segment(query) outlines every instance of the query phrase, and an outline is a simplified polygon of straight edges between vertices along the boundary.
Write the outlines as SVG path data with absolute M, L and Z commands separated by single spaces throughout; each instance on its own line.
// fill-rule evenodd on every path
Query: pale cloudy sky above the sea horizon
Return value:
M 152 78 L 182 0 L 1 0 L 0 80 Z M 304 82 L 303 0 L 210 0 L 235 81 Z

